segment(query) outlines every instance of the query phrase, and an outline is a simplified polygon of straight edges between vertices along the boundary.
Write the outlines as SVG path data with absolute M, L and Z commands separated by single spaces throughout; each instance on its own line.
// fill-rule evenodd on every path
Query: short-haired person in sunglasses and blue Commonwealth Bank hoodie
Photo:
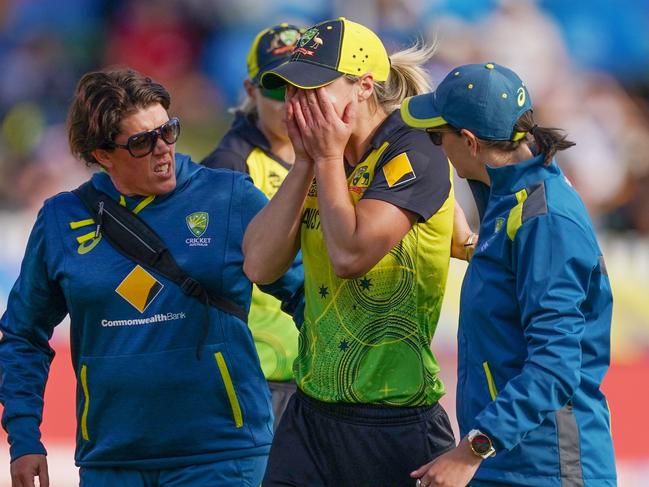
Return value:
M 266 197 L 244 174 L 176 154 L 169 105 L 166 89 L 137 72 L 86 74 L 69 113 L 71 150 L 103 169 L 95 188 L 138 214 L 185 272 L 247 310 L 241 243 Z M 302 284 L 293 277 L 269 291 L 289 300 Z M 248 327 L 120 254 L 64 192 L 37 217 L 0 321 L 14 487 L 36 476 L 49 485 L 39 425 L 48 341 L 66 314 L 81 486 L 259 485 L 272 413 Z

